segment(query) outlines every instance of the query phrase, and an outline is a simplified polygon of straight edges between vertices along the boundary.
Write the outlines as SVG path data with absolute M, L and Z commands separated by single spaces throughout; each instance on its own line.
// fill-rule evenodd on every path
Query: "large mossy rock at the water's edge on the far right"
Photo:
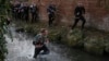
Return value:
M 87 41 L 84 44 L 84 49 L 90 53 L 104 54 L 104 39 L 97 37 L 88 38 Z

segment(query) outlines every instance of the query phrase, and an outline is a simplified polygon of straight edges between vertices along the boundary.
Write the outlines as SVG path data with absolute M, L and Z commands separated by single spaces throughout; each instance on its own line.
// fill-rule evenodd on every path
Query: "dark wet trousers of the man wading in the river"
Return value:
M 34 58 L 37 58 L 37 56 L 39 54 L 39 52 L 41 50 L 44 50 L 44 52 L 41 54 L 48 54 L 49 53 L 49 49 L 46 47 L 46 45 L 44 45 L 41 48 L 35 48 Z

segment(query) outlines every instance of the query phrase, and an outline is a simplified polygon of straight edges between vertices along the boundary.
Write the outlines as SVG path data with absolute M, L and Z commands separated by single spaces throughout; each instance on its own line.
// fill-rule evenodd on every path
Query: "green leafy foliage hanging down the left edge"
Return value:
M 5 21 L 7 21 L 7 1 L 9 0 L 0 0 L 0 61 L 4 61 L 5 59 L 5 53 L 8 53 L 7 50 L 7 41 L 4 38 L 4 34 L 5 34 Z

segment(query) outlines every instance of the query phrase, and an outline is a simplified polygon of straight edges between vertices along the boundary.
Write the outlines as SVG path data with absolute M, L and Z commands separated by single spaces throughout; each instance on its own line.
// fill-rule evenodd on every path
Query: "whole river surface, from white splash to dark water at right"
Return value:
M 5 61 L 109 61 L 108 57 L 93 56 L 82 50 L 70 49 L 63 45 L 49 44 L 49 54 L 38 56 L 33 59 L 34 49 L 33 37 L 25 33 L 16 33 L 11 26 L 13 41 L 5 35 L 9 53 Z

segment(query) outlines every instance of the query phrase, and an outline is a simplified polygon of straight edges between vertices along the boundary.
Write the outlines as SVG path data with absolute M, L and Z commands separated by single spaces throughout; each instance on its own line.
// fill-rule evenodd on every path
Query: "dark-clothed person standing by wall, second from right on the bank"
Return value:
M 53 4 L 50 4 L 48 7 L 47 11 L 48 11 L 48 17 L 49 17 L 48 25 L 51 26 L 53 24 L 53 21 L 55 21 L 56 7 Z

